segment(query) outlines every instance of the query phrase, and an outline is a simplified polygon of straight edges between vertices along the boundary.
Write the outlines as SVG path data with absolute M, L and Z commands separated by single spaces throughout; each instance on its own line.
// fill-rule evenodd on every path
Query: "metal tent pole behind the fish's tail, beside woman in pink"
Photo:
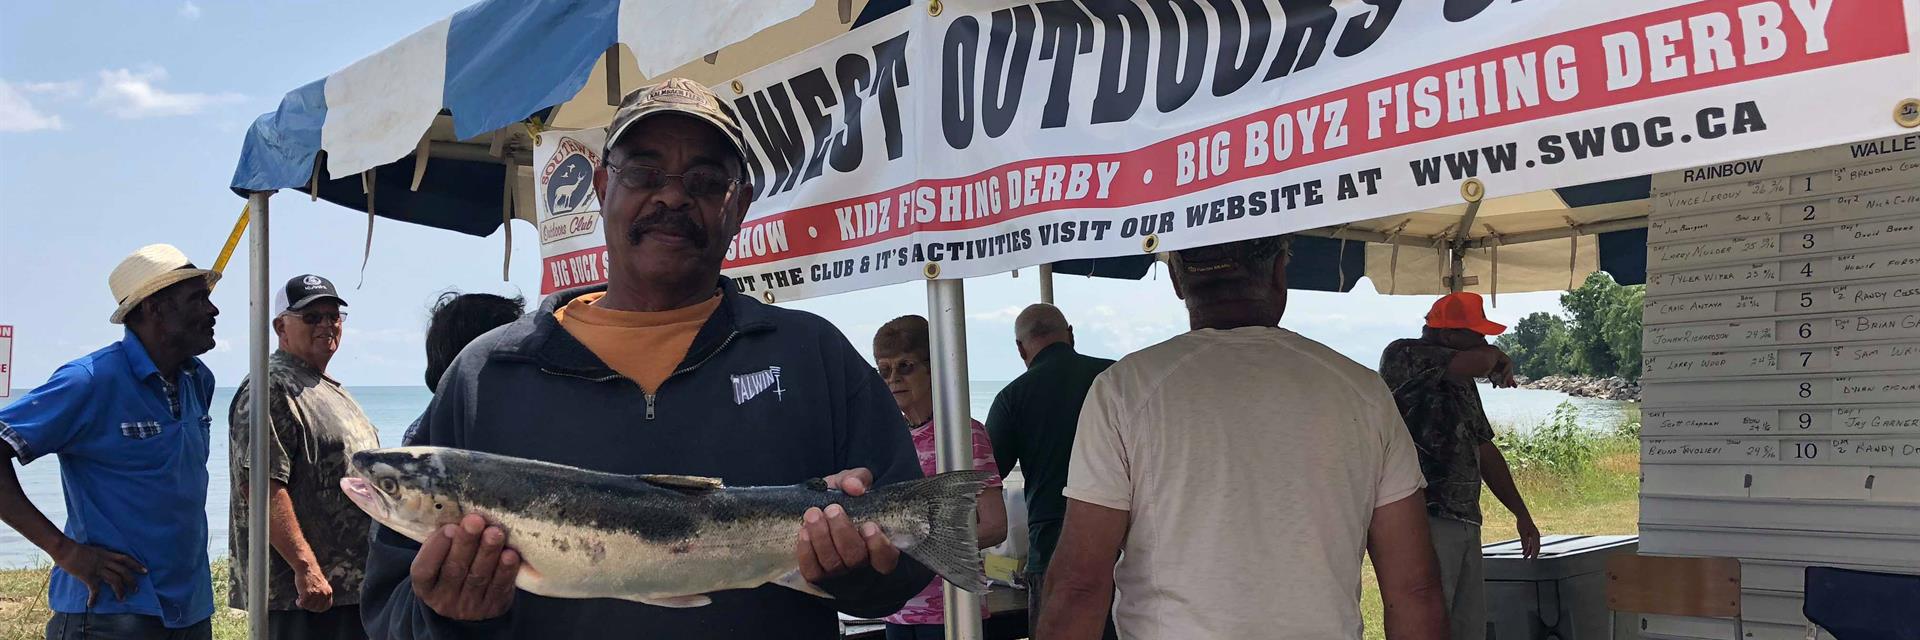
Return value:
M 966 284 L 962 281 L 927 281 L 927 325 L 933 338 L 937 469 L 943 473 L 973 469 L 973 417 L 968 409 L 966 381 Z M 968 529 L 973 529 L 972 525 L 968 521 Z M 945 584 L 945 590 L 947 638 L 981 640 L 979 596 L 952 584 Z

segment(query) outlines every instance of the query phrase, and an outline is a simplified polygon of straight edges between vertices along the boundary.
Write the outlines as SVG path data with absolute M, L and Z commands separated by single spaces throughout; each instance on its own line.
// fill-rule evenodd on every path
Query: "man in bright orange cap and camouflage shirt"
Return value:
M 1380 352 L 1380 377 L 1394 390 L 1427 475 L 1427 527 L 1440 559 L 1453 640 L 1486 636 L 1482 480 L 1513 511 L 1521 554 L 1540 555 L 1540 527 L 1534 527 L 1521 490 L 1513 486 L 1507 457 L 1494 446 L 1494 427 L 1475 386 L 1475 379 L 1513 386 L 1513 359 L 1486 344 L 1486 336 L 1505 331 L 1505 325 L 1486 319 L 1480 294 L 1463 290 L 1434 302 L 1419 338 L 1394 340 Z

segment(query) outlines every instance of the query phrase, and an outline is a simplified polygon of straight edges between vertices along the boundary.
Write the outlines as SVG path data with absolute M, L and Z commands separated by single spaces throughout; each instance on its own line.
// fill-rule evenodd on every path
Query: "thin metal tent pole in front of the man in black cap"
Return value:
M 227 429 L 248 429 L 252 431 L 252 465 L 248 467 L 248 496 L 246 496 L 246 527 L 248 527 L 248 567 L 246 567 L 246 607 L 248 607 L 248 638 L 267 640 L 267 567 L 273 565 L 273 550 L 267 546 L 267 444 L 273 440 L 271 423 L 267 419 L 267 350 L 271 329 L 267 327 L 267 306 L 273 304 L 273 294 L 267 288 L 267 198 L 271 192 L 253 192 L 248 196 L 252 200 L 248 206 L 253 209 L 253 223 L 250 231 L 248 244 L 248 277 L 252 279 L 252 304 L 248 306 L 248 325 L 250 332 L 250 361 L 252 375 L 248 388 L 252 390 L 248 398 L 252 409 L 248 415 L 253 417 L 252 425 L 227 425 Z

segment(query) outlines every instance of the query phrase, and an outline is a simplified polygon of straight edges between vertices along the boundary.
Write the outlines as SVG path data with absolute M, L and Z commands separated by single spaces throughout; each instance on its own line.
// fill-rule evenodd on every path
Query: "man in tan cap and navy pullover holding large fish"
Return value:
M 937 552 L 964 546 L 977 563 L 972 540 L 945 540 L 952 534 L 939 523 L 920 521 L 922 530 L 908 534 L 883 530 L 881 517 L 866 521 L 856 504 L 870 488 L 885 502 L 887 484 L 922 477 L 891 394 L 833 325 L 741 296 L 720 277 L 753 200 L 745 161 L 739 125 L 705 86 L 670 79 L 628 94 L 593 175 L 611 254 L 607 286 L 559 292 L 541 311 L 474 340 L 409 442 L 561 463 L 576 467 L 563 479 L 578 473 L 593 486 L 630 488 L 605 477 L 620 475 L 701 498 L 685 502 L 685 513 L 651 509 L 651 519 L 618 521 L 591 515 L 599 507 L 574 490 L 582 482 L 524 482 L 490 498 L 501 509 L 518 505 L 520 517 L 543 515 L 541 527 L 513 527 L 515 517 L 470 504 L 415 500 L 419 513 L 465 517 L 419 530 L 422 544 L 397 527 L 374 530 L 361 600 L 371 636 L 831 638 L 835 611 L 881 617 L 927 584 L 931 573 L 902 548 L 939 563 L 950 554 Z M 342 486 L 363 507 L 392 505 L 409 486 L 374 471 L 447 465 L 438 455 L 365 455 Z M 484 467 L 482 459 L 474 469 Z M 620 571 L 645 565 L 634 561 L 639 554 L 697 557 L 764 544 L 753 538 L 764 521 L 743 511 L 753 502 L 718 479 L 730 486 L 826 479 L 814 482 L 818 502 L 774 502 L 801 505 L 780 527 L 789 575 L 737 588 L 762 577 L 701 575 L 728 563 L 662 561 L 676 575 L 643 577 L 655 584 L 649 592 L 609 584 L 641 578 Z M 948 480 L 964 492 L 979 479 Z M 636 538 L 649 546 L 622 544 Z M 660 540 L 684 544 L 651 546 Z M 570 588 L 540 588 L 561 582 Z M 687 592 L 668 594 L 662 582 Z

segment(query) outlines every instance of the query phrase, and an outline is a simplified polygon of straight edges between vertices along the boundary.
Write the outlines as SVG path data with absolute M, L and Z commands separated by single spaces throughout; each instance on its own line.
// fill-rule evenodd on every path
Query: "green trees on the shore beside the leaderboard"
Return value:
M 1647 288 L 1620 286 L 1594 273 L 1580 288 L 1561 294 L 1563 315 L 1538 311 L 1494 340 L 1513 357 L 1513 373 L 1622 377 L 1640 381 L 1640 309 Z

